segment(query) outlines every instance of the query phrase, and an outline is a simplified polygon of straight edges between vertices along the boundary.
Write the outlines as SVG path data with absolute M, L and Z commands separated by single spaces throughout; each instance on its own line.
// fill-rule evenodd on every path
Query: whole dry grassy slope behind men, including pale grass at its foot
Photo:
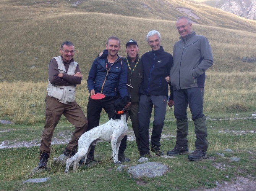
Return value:
M 165 51 L 172 53 L 179 40 L 176 19 L 186 15 L 178 11 L 181 7 L 200 18 L 191 16 L 197 23 L 193 30 L 208 38 L 214 55 L 214 65 L 207 70 L 205 111 L 231 111 L 237 107 L 255 111 L 255 63 L 241 59 L 256 56 L 256 21 L 185 0 L 86 0 L 79 6 L 69 2 L 0 2 L 1 118 L 16 123 L 44 121 L 48 63 L 59 55 L 65 40 L 75 44 L 74 58 L 84 75 L 76 100 L 86 112 L 87 74 L 107 38 L 120 38 L 123 56 L 125 42 L 133 38 L 142 55 L 150 51 L 147 32 L 159 30 Z

